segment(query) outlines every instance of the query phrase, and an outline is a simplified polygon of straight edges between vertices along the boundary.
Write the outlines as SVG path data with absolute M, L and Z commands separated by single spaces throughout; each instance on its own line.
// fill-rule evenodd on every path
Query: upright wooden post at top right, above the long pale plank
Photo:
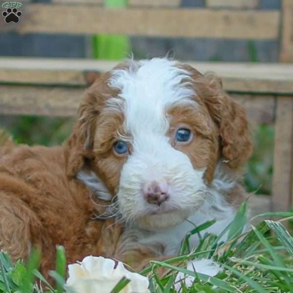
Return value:
M 293 62 L 293 1 L 283 0 L 282 2 L 282 62 Z

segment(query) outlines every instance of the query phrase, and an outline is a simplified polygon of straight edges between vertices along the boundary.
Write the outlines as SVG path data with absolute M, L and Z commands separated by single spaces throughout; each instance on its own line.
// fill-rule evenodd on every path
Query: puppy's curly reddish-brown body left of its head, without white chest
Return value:
M 0 148 L 0 248 L 15 261 L 32 247 L 42 250 L 42 270 L 54 269 L 56 245 L 66 249 L 69 263 L 88 254 L 115 255 L 120 227 L 114 219 L 94 221 L 103 212 L 91 191 L 68 180 L 63 147 Z M 112 238 L 111 238 L 112 237 Z M 115 239 L 117 237 L 117 239 Z

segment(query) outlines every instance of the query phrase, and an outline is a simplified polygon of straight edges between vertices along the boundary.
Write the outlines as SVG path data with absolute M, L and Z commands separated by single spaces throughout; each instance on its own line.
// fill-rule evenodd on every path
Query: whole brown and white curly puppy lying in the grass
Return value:
M 251 150 L 245 110 L 216 76 L 165 58 L 120 64 L 85 92 L 63 146 L 0 147 L 0 249 L 14 261 L 41 249 L 45 275 L 56 245 L 68 263 L 140 270 L 193 224 L 230 223 Z

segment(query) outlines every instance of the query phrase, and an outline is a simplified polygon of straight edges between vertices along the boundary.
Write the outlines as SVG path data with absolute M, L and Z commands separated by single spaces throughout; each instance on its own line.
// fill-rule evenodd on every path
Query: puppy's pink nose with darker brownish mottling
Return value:
M 144 187 L 145 199 L 149 204 L 160 206 L 168 199 L 168 185 L 166 181 L 151 181 Z

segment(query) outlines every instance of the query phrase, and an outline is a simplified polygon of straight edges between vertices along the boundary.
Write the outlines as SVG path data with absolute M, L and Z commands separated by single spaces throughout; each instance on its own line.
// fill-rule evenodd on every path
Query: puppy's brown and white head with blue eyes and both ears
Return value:
M 251 154 L 245 111 L 221 81 L 167 59 L 102 75 L 68 144 L 69 175 L 86 165 L 122 216 L 147 229 L 184 221 L 203 205 L 217 162 L 236 169 Z

